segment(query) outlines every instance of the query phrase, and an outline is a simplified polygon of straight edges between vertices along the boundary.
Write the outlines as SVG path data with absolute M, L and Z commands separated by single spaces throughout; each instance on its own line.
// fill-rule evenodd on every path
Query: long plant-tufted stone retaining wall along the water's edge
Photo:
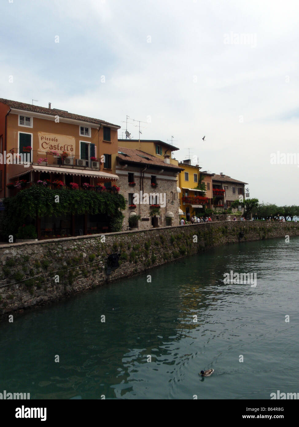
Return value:
M 225 221 L 0 246 L 0 318 L 216 246 L 286 234 L 299 235 L 299 223 Z M 120 266 L 109 275 L 112 253 Z

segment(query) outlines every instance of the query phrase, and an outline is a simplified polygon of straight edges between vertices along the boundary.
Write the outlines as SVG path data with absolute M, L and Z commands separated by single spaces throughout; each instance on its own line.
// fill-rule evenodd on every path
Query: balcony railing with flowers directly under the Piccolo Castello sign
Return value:
M 30 150 L 30 152 L 17 153 L 17 158 L 20 154 L 26 155 L 25 159 L 30 155 L 30 163 L 39 164 L 41 166 L 56 166 L 56 167 L 71 167 L 80 169 L 96 169 L 100 168 L 100 159 L 89 156 L 80 158 L 78 155 L 63 155 L 61 153 L 55 155 L 49 152 L 38 150 Z M 20 158 L 22 160 L 22 156 Z

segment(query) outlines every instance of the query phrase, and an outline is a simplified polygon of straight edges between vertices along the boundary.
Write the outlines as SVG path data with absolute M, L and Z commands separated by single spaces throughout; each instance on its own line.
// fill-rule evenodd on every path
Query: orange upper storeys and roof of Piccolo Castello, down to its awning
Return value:
M 73 181 L 79 186 L 115 181 L 118 129 L 50 104 L 44 108 L 0 98 L 0 198 L 9 196 L 6 184 L 20 176 L 36 182 L 46 173 L 51 181 Z M 10 155 L 15 155 L 15 164 Z M 18 164 L 24 155 L 29 166 Z

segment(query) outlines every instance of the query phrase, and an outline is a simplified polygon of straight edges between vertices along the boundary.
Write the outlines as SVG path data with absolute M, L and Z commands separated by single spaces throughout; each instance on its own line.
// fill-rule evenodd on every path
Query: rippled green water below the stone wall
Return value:
M 2 323 L 0 392 L 45 399 L 299 392 L 298 250 L 298 237 L 225 246 Z M 230 270 L 255 272 L 257 286 L 225 285 Z M 209 368 L 211 377 L 199 377 Z

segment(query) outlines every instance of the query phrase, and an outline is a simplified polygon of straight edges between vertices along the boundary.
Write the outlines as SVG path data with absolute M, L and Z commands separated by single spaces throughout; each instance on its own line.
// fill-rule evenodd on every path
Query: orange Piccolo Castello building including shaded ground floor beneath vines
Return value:
M 115 192 L 118 129 L 50 104 L 44 108 L 0 98 L 0 199 L 34 183 Z M 105 213 L 44 217 L 35 226 L 38 238 L 47 230 L 53 235 L 54 230 L 55 235 L 109 231 Z

